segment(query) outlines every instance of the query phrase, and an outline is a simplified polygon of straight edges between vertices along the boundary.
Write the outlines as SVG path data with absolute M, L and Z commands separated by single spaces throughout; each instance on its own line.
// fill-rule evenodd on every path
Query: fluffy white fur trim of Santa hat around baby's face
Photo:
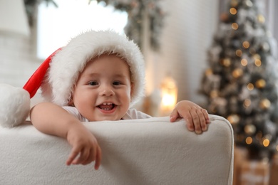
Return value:
M 130 106 L 144 94 L 145 65 L 138 46 L 125 35 L 114 31 L 88 31 L 73 38 L 67 46 L 57 51 L 48 69 L 48 78 L 41 85 L 46 100 L 57 105 L 68 105 L 73 84 L 88 60 L 103 53 L 117 53 L 130 66 L 134 83 Z

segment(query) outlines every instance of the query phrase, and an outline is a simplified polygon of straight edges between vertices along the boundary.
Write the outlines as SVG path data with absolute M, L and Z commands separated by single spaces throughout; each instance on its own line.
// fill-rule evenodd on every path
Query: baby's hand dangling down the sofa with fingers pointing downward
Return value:
M 66 164 L 90 164 L 95 161 L 95 169 L 101 165 L 101 147 L 96 137 L 83 125 L 75 125 L 68 130 L 68 143 L 71 144 L 71 154 Z

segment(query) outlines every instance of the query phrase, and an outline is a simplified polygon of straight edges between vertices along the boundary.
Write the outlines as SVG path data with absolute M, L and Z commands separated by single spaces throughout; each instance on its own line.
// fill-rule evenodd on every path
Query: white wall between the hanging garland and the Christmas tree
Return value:
M 207 66 L 207 48 L 218 23 L 218 1 L 164 0 L 168 14 L 161 38 L 160 53 L 146 58 L 148 91 L 158 88 L 167 73 L 177 80 L 178 100 L 202 102 L 197 94 L 200 78 Z M 151 63 L 151 64 L 150 64 Z

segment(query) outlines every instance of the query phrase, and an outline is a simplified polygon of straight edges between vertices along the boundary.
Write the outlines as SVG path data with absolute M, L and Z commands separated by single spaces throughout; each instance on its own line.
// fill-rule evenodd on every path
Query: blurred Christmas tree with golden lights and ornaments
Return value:
M 229 2 L 208 51 L 201 90 L 208 112 L 227 118 L 237 146 L 258 159 L 278 150 L 277 45 L 261 3 Z

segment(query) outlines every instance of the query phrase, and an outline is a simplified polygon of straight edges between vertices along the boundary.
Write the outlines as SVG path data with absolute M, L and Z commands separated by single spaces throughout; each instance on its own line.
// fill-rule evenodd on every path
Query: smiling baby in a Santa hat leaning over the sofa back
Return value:
M 87 31 L 54 52 L 38 68 L 24 89 L 36 94 L 39 83 L 47 102 L 30 111 L 34 127 L 46 134 L 67 139 L 71 164 L 101 165 L 101 147 L 81 122 L 149 118 L 133 109 L 143 97 L 145 67 L 138 46 L 114 31 Z M 37 83 L 37 82 L 36 82 Z M 187 129 L 200 134 L 207 130 L 207 111 L 190 101 L 177 102 L 170 122 L 183 117 Z

